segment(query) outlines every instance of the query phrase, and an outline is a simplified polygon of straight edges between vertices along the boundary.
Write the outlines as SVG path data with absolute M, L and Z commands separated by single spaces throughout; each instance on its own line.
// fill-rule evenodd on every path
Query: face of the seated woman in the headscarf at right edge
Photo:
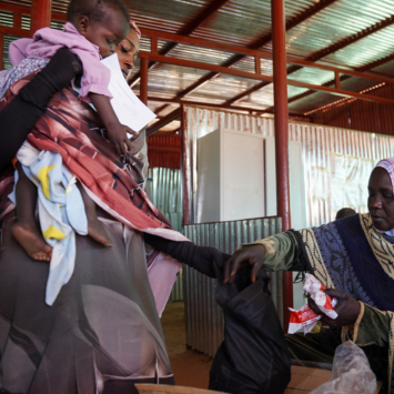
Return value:
M 374 226 L 381 231 L 394 229 L 394 195 L 388 172 L 377 166 L 368 183 L 368 211 Z

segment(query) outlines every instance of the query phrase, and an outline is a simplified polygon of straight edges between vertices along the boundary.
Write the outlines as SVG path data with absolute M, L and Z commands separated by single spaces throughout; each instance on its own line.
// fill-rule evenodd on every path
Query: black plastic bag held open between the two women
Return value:
M 270 276 L 241 267 L 235 283 L 223 284 L 215 266 L 216 302 L 224 313 L 224 341 L 210 371 L 210 390 L 232 394 L 283 394 L 291 378 L 291 360 L 269 291 Z

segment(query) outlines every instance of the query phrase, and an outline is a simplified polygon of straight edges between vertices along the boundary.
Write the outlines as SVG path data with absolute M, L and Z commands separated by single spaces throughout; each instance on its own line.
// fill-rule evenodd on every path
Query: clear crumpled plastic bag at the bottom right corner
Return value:
M 352 341 L 337 346 L 331 381 L 310 394 L 374 394 L 376 376 L 365 353 Z

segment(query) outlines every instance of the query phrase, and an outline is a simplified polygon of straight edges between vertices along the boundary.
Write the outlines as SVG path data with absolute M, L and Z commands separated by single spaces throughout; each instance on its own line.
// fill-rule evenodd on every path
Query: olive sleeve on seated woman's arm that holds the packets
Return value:
M 360 302 L 360 315 L 353 330 L 348 330 L 345 340 L 351 339 L 358 346 L 387 346 L 391 326 L 390 315 L 363 302 Z

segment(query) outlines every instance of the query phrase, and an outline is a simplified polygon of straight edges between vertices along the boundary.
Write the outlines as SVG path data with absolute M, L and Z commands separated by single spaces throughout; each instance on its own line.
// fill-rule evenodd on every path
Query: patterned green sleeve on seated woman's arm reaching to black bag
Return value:
M 264 240 L 242 244 L 240 247 L 263 244 L 266 249 L 264 267 L 267 271 L 306 271 L 299 241 L 293 231 L 271 235 Z

